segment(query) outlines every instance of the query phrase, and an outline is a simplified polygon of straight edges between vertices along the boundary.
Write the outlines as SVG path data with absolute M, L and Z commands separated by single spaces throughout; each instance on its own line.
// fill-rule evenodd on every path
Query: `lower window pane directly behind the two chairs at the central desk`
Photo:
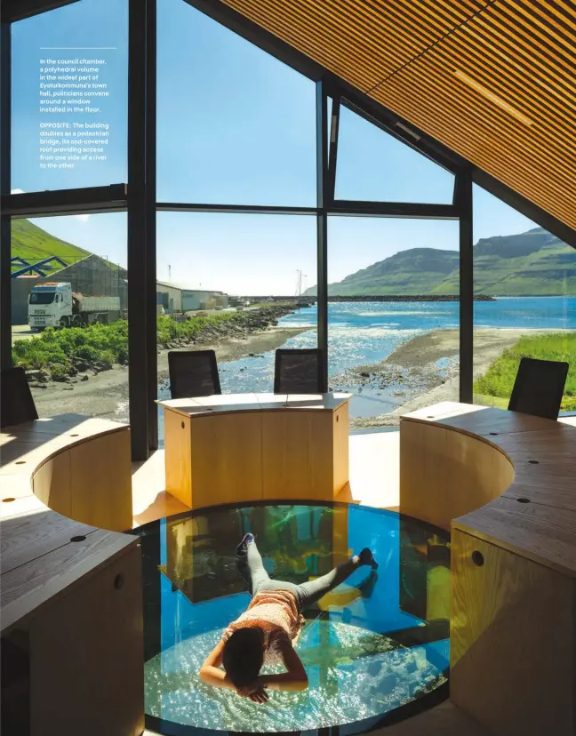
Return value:
M 159 212 L 157 277 L 160 397 L 171 348 L 213 348 L 223 393 L 272 392 L 276 348 L 316 348 L 315 217 Z

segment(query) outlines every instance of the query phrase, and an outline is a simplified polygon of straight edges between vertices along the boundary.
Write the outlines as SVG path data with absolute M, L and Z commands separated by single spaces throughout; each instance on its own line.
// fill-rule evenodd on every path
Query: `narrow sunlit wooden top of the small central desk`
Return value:
M 351 398 L 350 394 L 219 394 L 158 401 L 165 409 L 185 416 L 209 416 L 211 413 L 316 411 L 334 412 Z

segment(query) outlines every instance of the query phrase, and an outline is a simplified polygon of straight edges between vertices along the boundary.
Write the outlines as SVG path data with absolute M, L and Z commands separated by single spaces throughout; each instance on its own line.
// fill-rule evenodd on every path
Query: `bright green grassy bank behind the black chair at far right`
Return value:
M 518 364 L 523 357 L 562 360 L 570 364 L 561 411 L 576 411 L 576 332 L 549 332 L 521 337 L 513 348 L 505 350 L 492 363 L 482 378 L 476 380 L 475 400 L 506 407 L 516 380 Z

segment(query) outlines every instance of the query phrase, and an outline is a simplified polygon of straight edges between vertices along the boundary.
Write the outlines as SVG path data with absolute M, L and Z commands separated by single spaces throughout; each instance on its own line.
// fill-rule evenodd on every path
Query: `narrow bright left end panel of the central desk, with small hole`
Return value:
M 166 491 L 192 507 L 190 417 L 164 407 Z

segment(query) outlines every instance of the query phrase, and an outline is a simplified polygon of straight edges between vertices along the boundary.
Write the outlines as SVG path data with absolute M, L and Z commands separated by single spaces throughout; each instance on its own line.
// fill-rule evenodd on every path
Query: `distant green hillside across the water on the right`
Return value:
M 565 283 L 564 283 L 565 281 Z M 576 250 L 542 228 L 482 238 L 474 247 L 474 289 L 491 296 L 576 294 Z M 328 285 L 328 293 L 457 294 L 459 253 L 411 248 Z M 316 286 L 307 294 L 316 294 Z

